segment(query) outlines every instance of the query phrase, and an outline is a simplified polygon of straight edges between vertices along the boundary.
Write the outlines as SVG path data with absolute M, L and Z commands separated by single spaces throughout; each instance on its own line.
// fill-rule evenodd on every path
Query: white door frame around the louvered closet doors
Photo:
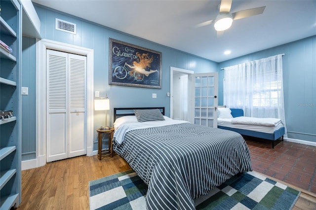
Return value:
M 59 50 L 87 57 L 87 156 L 93 152 L 93 49 L 48 39 L 36 42 L 36 155 L 37 167 L 46 164 L 46 49 Z

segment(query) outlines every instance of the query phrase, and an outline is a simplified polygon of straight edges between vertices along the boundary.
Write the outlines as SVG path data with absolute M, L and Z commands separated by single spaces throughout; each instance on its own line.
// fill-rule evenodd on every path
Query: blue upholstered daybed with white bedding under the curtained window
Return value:
M 285 129 L 280 119 L 244 117 L 243 110 L 240 108 L 218 108 L 218 113 L 217 127 L 220 129 L 235 131 L 245 136 L 272 140 L 272 148 L 275 146 L 275 140 L 281 138 L 283 141 Z

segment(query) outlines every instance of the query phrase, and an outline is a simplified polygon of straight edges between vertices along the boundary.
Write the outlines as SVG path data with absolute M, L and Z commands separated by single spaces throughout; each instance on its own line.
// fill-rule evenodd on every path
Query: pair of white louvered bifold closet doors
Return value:
M 86 57 L 47 49 L 46 161 L 86 154 Z

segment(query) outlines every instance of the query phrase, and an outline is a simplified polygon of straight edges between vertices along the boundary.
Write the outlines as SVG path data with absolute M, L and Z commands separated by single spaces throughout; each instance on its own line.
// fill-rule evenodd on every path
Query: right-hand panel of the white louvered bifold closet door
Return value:
M 68 157 L 86 154 L 86 57 L 69 54 Z

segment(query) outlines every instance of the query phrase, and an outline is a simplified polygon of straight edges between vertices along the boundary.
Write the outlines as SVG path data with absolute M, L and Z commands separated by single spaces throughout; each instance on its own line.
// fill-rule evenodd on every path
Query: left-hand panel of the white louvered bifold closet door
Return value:
M 68 53 L 46 53 L 46 161 L 68 158 L 67 99 Z

